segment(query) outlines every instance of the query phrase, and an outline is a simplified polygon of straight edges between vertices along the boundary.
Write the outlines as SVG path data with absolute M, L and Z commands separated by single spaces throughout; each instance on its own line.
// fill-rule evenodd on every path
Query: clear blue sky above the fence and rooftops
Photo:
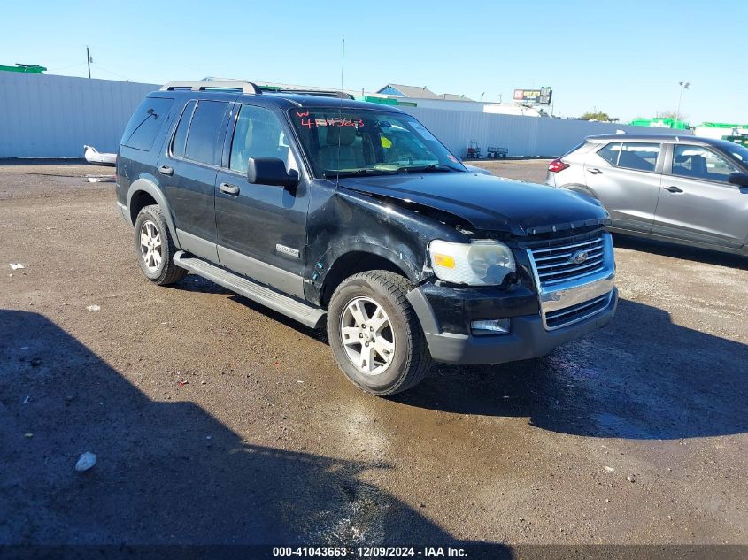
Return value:
M 469 8 L 467 7 L 469 6 Z M 4 2 L 0 64 L 163 83 L 221 76 L 346 88 L 388 82 L 511 99 L 551 86 L 555 112 L 675 111 L 748 122 L 748 1 Z M 732 28 L 732 30 L 730 29 Z

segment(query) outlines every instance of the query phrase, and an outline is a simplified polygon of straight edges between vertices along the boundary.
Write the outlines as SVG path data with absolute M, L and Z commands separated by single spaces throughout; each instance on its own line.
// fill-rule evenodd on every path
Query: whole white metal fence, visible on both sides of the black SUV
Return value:
M 82 157 L 83 144 L 114 152 L 135 107 L 155 84 L 88 80 L 40 74 L 0 72 L 0 157 Z M 547 119 L 402 107 L 464 157 L 477 141 L 507 148 L 510 156 L 560 156 L 585 136 L 616 130 L 647 132 L 582 120 Z M 690 134 L 658 128 L 659 134 Z

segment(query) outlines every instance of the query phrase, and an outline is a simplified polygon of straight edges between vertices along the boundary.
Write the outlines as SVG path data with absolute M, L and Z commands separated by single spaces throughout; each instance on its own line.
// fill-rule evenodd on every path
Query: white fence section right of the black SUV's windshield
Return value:
M 401 107 L 424 124 L 455 155 L 465 157 L 471 140 L 478 142 L 485 157 L 486 148 L 507 148 L 509 156 L 558 157 L 593 134 L 656 133 L 689 135 L 690 131 L 670 128 L 631 127 L 586 120 L 550 119 L 497 115 L 474 111 L 443 111 Z

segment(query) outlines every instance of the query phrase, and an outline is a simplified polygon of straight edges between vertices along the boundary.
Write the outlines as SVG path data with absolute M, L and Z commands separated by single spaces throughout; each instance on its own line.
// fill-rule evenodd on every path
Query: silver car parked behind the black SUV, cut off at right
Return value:
M 590 136 L 545 183 L 597 198 L 612 232 L 748 256 L 748 149 L 666 134 Z

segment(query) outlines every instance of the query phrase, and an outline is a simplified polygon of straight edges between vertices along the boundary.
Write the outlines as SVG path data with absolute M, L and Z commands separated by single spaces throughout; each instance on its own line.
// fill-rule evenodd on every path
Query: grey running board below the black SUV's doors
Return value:
M 212 265 L 202 258 L 194 257 L 184 251 L 178 251 L 174 255 L 174 263 L 186 268 L 189 272 L 228 288 L 232 292 L 243 295 L 253 302 L 265 305 L 273 311 L 278 311 L 289 318 L 295 319 L 305 326 L 317 328 L 321 319 L 325 317 L 325 311 L 319 307 L 313 307 L 288 295 L 282 295 L 271 288 L 261 286 L 234 272 L 228 272 L 220 266 Z

